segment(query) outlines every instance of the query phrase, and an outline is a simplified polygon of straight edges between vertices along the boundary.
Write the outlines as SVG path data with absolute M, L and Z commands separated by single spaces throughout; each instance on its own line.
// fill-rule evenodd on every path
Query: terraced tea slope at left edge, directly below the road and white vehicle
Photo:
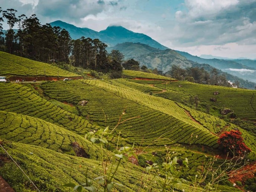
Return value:
M 1 84 L 0 110 L 40 118 L 78 134 L 85 134 L 95 128 L 85 118 L 57 107 L 24 84 Z

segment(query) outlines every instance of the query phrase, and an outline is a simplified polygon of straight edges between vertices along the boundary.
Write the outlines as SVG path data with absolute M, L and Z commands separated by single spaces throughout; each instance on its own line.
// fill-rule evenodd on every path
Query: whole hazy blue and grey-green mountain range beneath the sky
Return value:
M 124 59 L 136 59 L 140 62 L 141 66 L 146 65 L 148 68 L 157 68 L 159 71 L 167 72 L 171 69 L 172 65 L 179 65 L 182 68 L 201 66 L 208 70 L 214 67 L 230 74 L 231 76 L 229 75 L 229 77 L 231 79 L 236 79 L 232 78 L 232 76 L 241 78 L 241 81 L 239 80 L 240 84 L 243 84 L 242 81 L 246 80 L 256 83 L 255 60 L 217 59 L 211 55 L 202 55 L 203 57 L 209 58 L 205 59 L 193 56 L 187 52 L 169 49 L 143 33 L 135 33 L 122 26 L 109 26 L 107 29 L 97 32 L 86 27 L 76 27 L 60 20 L 52 22 L 50 25 L 66 29 L 72 39 L 79 39 L 82 36 L 85 38 L 99 39 L 108 45 L 108 52 L 113 49 L 119 50 L 124 54 Z M 253 88 L 255 85 L 252 84 L 249 87 Z

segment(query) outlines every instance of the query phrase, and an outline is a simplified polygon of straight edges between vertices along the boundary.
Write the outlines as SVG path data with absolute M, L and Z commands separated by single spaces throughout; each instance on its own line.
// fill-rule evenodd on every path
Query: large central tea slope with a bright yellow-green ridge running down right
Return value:
M 121 81 L 122 82 L 127 81 Z M 78 106 L 80 113 L 99 126 L 111 125 L 133 118 L 121 124 L 117 131 L 128 143 L 147 146 L 187 143 L 191 133 L 198 135 L 192 143 L 217 147 L 217 137 L 209 130 L 195 123 L 184 109 L 175 102 L 135 91 L 136 87 L 116 86 L 118 81 L 81 80 L 72 82 L 47 82 L 41 85 L 51 98 L 77 104 L 87 100 L 85 106 Z M 123 85 L 123 84 L 122 84 Z M 133 84 L 134 85 L 134 84 Z M 58 87 L 56 89 L 56 87 Z M 159 137 L 161 138 L 158 139 Z

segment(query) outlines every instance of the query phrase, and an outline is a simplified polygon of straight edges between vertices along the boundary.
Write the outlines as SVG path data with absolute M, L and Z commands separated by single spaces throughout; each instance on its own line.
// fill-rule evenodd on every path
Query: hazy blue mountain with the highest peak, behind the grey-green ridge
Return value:
M 50 23 L 50 25 L 59 26 L 62 29 L 66 29 L 69 32 L 72 39 L 79 39 L 82 36 L 84 36 L 85 38 L 89 37 L 91 39 L 100 39 L 109 47 L 113 47 L 117 43 L 139 42 L 147 44 L 156 49 L 168 49 L 167 47 L 161 45 L 156 40 L 153 40 L 152 38 L 143 33 L 135 33 L 121 26 L 109 26 L 107 27 L 107 29 L 97 32 L 88 28 L 76 27 L 74 25 L 59 20 Z

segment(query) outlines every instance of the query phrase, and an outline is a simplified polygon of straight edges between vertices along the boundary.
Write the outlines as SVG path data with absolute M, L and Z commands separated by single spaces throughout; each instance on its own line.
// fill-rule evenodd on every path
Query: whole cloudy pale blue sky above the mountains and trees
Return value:
M 256 0 L 0 0 L 0 7 L 36 14 L 42 25 L 123 26 L 191 55 L 256 59 Z

